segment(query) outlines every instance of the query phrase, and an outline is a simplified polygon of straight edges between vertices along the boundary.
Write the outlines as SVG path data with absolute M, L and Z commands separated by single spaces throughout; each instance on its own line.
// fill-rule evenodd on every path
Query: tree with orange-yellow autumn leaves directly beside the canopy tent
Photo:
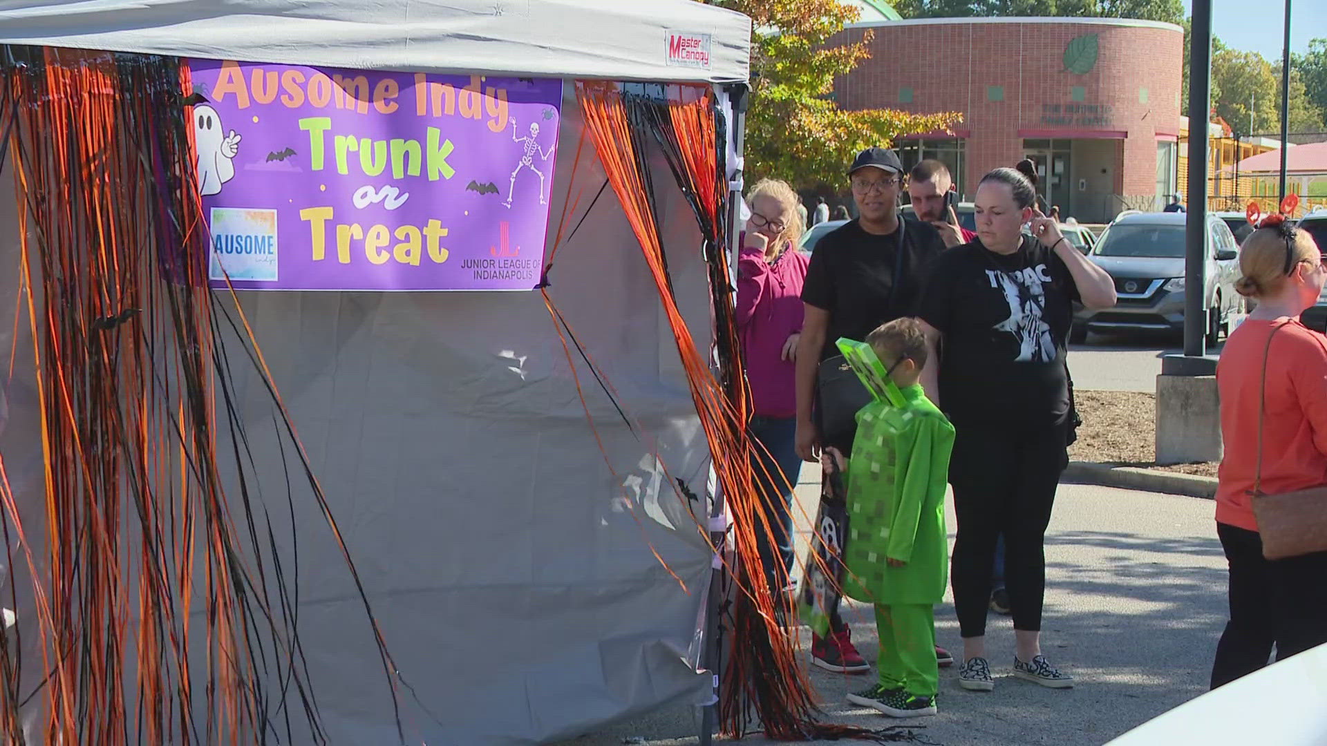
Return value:
M 795 188 L 844 185 L 857 151 L 898 137 L 943 130 L 955 113 L 889 109 L 848 112 L 833 100 L 836 76 L 871 56 L 861 41 L 831 44 L 859 17 L 840 0 L 701 0 L 751 17 L 751 101 L 747 108 L 747 178 L 775 177 Z

